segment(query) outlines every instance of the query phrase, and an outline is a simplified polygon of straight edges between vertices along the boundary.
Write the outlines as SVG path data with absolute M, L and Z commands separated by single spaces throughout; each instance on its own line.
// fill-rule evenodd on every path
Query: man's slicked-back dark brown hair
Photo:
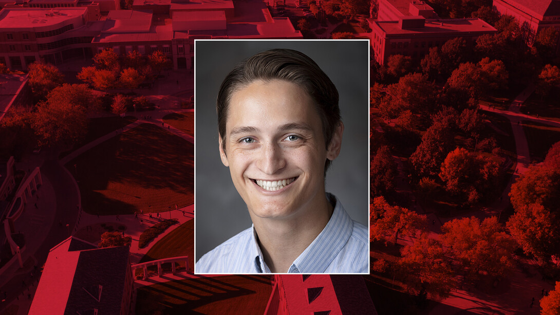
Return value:
M 271 49 L 237 64 L 222 82 L 216 103 L 222 150 L 226 151 L 226 123 L 232 95 L 252 82 L 272 80 L 295 84 L 310 96 L 321 119 L 325 147 L 328 148 L 340 124 L 337 88 L 305 54 L 291 49 Z M 329 159 L 325 160 L 325 173 L 330 163 Z

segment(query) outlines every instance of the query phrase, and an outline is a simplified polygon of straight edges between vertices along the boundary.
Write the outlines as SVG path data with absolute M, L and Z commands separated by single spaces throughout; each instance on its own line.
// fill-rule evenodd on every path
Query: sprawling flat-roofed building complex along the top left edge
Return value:
M 47 0 L 29 1 L 26 5 Z M 147 55 L 160 50 L 174 69 L 192 69 L 195 39 L 302 38 L 287 17 L 272 17 L 258 0 L 236 2 L 235 8 L 232 0 L 136 0 L 134 10 L 109 10 L 106 17 L 102 0 L 49 1 L 71 7 L 57 4 L 48 10 L 5 7 L 0 11 L 0 63 L 11 70 L 26 70 L 39 59 L 59 64 L 113 48 L 118 54 L 138 50 Z M 81 3 L 87 6 L 78 6 Z

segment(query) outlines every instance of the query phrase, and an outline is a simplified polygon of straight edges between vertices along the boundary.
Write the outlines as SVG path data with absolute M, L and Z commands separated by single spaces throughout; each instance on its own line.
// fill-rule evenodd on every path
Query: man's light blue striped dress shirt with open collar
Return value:
M 336 202 L 333 215 L 323 231 L 293 261 L 288 273 L 367 274 L 369 272 L 367 228 L 351 219 L 337 197 L 329 193 L 327 197 Z M 197 274 L 270 272 L 256 239 L 255 229 L 251 226 L 200 257 L 195 264 L 195 271 Z

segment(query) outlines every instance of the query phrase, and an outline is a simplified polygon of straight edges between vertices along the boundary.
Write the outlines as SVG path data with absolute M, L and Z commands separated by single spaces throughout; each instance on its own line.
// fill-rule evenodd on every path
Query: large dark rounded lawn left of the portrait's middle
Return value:
M 166 211 L 193 203 L 193 150 L 183 138 L 141 124 L 66 167 L 77 177 L 83 209 L 90 214 Z

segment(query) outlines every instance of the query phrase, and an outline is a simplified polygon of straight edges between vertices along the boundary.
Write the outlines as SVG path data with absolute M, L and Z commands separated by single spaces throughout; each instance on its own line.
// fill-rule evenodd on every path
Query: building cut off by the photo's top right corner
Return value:
M 501 15 L 511 15 L 519 21 L 529 46 L 533 45 L 536 35 L 545 27 L 560 30 L 559 0 L 494 0 L 493 7 Z

